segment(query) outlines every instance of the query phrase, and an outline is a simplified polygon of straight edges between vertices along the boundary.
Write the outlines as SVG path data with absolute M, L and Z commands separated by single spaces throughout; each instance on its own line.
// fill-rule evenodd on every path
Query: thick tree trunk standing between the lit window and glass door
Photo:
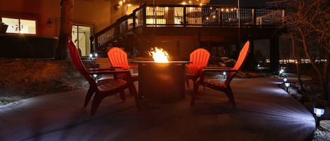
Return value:
M 56 59 L 65 60 L 68 58 L 68 36 L 72 32 L 72 15 L 74 0 L 61 0 L 61 27 Z

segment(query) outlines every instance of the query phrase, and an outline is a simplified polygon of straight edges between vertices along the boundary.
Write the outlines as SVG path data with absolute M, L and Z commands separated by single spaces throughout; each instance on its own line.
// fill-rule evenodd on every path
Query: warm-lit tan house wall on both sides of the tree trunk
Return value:
M 0 17 L 37 20 L 38 36 L 59 36 L 60 0 L 0 0 Z M 47 21 L 51 20 L 51 26 Z M 73 24 L 90 25 L 94 33 L 110 25 L 110 1 L 75 0 Z

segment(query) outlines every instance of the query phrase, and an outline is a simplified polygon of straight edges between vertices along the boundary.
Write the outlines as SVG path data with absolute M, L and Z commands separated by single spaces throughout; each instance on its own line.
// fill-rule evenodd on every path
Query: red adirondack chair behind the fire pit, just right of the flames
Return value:
M 208 65 L 208 60 L 210 59 L 210 53 L 204 48 L 197 48 L 195 51 L 190 53 L 190 64 L 187 65 L 186 72 L 186 86 L 189 88 L 189 80 L 193 82 L 200 76 L 201 69 Z

